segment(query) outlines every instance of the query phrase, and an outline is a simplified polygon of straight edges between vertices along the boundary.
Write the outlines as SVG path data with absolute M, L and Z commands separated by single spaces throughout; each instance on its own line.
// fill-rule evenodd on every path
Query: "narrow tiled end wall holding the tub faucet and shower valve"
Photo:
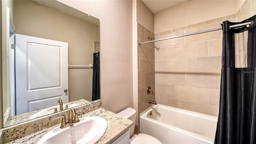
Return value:
M 147 42 L 148 36 L 154 37 L 154 33 L 138 23 L 138 42 Z M 138 116 L 152 104 L 148 100 L 155 101 L 155 61 L 154 43 L 138 45 Z M 147 93 L 148 86 L 153 93 Z M 139 120 L 139 118 L 138 118 Z M 138 122 L 139 124 L 139 122 Z

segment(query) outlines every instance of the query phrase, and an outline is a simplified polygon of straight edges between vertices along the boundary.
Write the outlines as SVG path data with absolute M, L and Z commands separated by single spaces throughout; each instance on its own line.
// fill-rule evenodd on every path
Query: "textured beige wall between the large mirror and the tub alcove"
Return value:
M 100 19 L 102 107 L 133 108 L 132 1 L 58 0 Z

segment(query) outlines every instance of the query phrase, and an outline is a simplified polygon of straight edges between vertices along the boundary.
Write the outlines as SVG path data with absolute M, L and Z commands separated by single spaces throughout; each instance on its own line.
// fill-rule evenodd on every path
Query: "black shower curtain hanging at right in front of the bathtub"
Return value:
M 252 26 L 229 28 L 252 22 Z M 235 68 L 234 34 L 248 30 L 247 68 Z M 256 144 L 256 15 L 222 24 L 220 111 L 214 144 Z

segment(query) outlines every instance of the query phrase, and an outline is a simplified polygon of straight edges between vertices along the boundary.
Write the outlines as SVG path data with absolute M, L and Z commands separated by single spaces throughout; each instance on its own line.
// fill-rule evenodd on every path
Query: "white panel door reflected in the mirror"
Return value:
M 68 43 L 16 34 L 16 114 L 68 102 Z

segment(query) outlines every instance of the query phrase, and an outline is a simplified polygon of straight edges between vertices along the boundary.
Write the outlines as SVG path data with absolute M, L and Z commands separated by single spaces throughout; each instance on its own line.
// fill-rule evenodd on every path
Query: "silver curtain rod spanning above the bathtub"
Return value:
M 252 24 L 253 24 L 253 21 L 250 21 L 250 22 L 246 22 L 246 23 L 242 23 L 242 24 L 235 24 L 235 25 L 230 26 L 229 28 L 237 28 L 237 27 L 240 27 L 240 26 L 246 26 L 246 25 L 252 25 Z M 169 38 L 162 38 L 162 39 L 159 39 L 159 40 L 141 42 L 141 43 L 139 43 L 139 45 L 140 44 L 147 44 L 147 43 L 150 43 L 150 42 L 158 42 L 158 41 L 161 41 L 161 40 L 168 40 L 168 39 L 172 39 L 172 38 L 180 38 L 180 37 L 183 37 L 183 36 L 190 36 L 190 35 L 194 35 L 194 34 L 202 34 L 202 33 L 205 33 L 205 32 L 213 32 L 213 31 L 216 31 L 216 30 L 222 30 L 222 28 L 214 28 L 214 29 L 211 29 L 211 30 L 204 30 L 204 31 L 200 31 L 200 32 L 192 32 L 192 33 L 189 33 L 189 34 L 182 34 L 182 35 L 179 35 L 179 36 L 172 36 L 172 37 L 169 37 Z

